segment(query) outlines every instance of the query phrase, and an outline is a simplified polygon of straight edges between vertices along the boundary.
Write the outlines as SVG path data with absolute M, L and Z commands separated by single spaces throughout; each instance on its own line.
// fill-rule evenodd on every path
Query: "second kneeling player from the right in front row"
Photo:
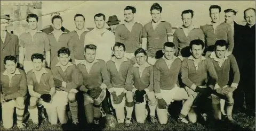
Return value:
M 207 124 L 209 122 L 207 113 L 211 111 L 208 97 L 213 92 L 218 77 L 211 60 L 202 56 L 204 42 L 199 39 L 192 40 L 189 47 L 192 55 L 185 58 L 181 64 L 182 82 L 186 85 L 188 94 L 193 96 L 195 103 L 191 105 L 188 118 L 192 123 L 196 123 L 197 113 L 201 113 L 203 124 Z

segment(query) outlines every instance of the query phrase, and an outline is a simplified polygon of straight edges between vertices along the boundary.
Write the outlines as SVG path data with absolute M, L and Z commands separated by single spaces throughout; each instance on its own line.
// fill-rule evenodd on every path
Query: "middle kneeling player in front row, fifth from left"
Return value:
M 124 83 L 129 68 L 133 65 L 132 60 L 124 57 L 125 45 L 116 42 L 114 47 L 114 57 L 107 62 L 108 76 L 110 83 L 108 91 L 111 96 L 111 104 L 116 112 L 118 123 L 124 123 L 124 107 L 125 107 L 125 93 Z

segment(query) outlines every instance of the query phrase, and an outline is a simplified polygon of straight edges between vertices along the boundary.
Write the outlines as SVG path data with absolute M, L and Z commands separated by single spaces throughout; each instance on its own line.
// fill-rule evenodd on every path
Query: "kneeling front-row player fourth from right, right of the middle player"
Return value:
M 126 126 L 131 125 L 131 117 L 133 111 L 133 97 L 135 97 L 135 117 L 138 123 L 144 123 L 148 116 L 148 111 L 146 109 L 146 99 L 148 99 L 148 106 L 150 109 L 150 118 L 152 123 L 156 123 L 157 119 L 155 117 L 156 111 L 156 97 L 153 91 L 153 65 L 146 62 L 147 53 L 144 49 L 139 48 L 134 52 L 135 63 L 130 67 L 126 81 L 125 89 L 126 92 L 126 111 L 127 116 L 125 119 Z M 133 87 L 134 86 L 134 87 Z

